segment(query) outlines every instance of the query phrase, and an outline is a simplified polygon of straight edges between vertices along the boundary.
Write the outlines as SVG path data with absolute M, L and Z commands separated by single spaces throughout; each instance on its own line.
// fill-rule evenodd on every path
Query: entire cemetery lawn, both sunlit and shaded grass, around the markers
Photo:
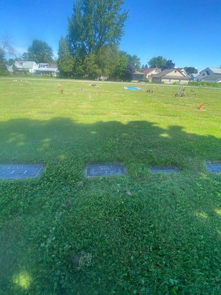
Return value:
M 46 167 L 0 180 L 0 294 L 221 294 L 221 91 L 29 82 L 0 80 L 0 164 Z

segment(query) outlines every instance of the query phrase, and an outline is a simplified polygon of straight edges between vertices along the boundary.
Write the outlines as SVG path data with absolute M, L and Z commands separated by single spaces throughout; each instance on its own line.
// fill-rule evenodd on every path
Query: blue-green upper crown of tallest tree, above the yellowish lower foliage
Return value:
M 72 53 L 83 57 L 104 45 L 119 44 L 128 11 L 120 13 L 124 0 L 76 0 L 68 19 L 67 38 Z

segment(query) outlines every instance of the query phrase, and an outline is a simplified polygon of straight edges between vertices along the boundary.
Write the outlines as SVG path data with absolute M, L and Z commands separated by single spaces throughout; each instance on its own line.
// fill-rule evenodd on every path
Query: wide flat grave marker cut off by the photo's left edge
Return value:
M 0 178 L 17 179 L 37 177 L 42 173 L 43 165 L 0 164 Z

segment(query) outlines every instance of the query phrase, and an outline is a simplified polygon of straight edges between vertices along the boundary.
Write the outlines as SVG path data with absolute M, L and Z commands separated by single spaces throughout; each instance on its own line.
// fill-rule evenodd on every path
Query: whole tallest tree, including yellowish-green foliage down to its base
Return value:
M 67 34 L 75 61 L 73 74 L 112 79 L 121 76 L 124 63 L 119 56 L 118 43 L 128 17 L 128 12 L 120 13 L 123 3 L 123 0 L 74 2 Z

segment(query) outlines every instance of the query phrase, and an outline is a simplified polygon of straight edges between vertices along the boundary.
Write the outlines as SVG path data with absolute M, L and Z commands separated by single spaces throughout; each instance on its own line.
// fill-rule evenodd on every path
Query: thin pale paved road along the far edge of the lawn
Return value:
M 112 82 L 112 81 L 92 81 L 92 80 L 68 80 L 68 79 L 44 79 L 44 78 L 41 78 L 41 79 L 38 79 L 38 78 L 0 78 L 0 81 L 1 80 L 38 80 L 38 81 L 53 81 L 53 82 L 62 82 L 62 81 L 65 81 L 65 82 L 84 82 L 84 83 L 112 83 L 112 84 L 135 84 L 135 85 L 141 85 L 140 83 L 138 82 Z M 169 86 L 169 87 L 179 87 L 179 85 L 172 85 L 172 84 L 155 84 L 155 83 L 146 83 L 145 86 L 151 86 L 151 85 L 159 85 L 159 86 Z M 143 86 L 143 85 L 142 85 Z M 221 90 L 221 87 L 220 88 L 217 88 L 217 87 L 201 87 L 201 86 L 187 86 L 187 85 L 184 85 L 185 87 L 190 87 L 190 88 L 206 88 L 206 89 L 218 89 L 218 90 Z

